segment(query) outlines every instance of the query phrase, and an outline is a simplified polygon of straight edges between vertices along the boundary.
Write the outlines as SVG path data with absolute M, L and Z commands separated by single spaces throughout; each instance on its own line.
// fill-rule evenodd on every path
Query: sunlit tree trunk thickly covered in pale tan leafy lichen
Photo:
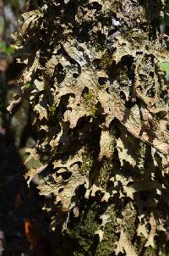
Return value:
M 66 234 L 67 246 L 71 239 L 78 245 L 68 246 L 71 255 L 165 250 L 169 86 L 158 66 L 168 58 L 164 12 L 162 1 L 51 0 L 23 15 L 15 47 L 25 70 L 20 98 L 8 109 L 29 99 L 37 141 L 28 149 L 26 179 L 41 180 L 52 229 Z M 89 210 L 96 224 L 88 237 Z

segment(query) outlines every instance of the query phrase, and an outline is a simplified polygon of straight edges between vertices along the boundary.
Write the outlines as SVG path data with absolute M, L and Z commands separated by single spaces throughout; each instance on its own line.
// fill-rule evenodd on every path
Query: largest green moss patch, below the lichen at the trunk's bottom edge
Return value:
M 80 218 L 80 220 L 71 220 L 68 225 L 68 236 L 74 237 L 77 242 L 77 247 L 74 247 L 73 255 L 76 256 L 93 256 L 93 255 L 111 255 L 116 247 L 117 241 L 116 232 L 116 213 L 114 206 L 111 205 L 106 210 L 106 214 L 110 216 L 110 222 L 108 222 L 104 228 L 104 237 L 101 243 L 95 236 L 95 231 L 99 229 L 98 214 L 101 213 L 101 205 L 94 202 L 89 205 L 85 205 L 86 214 Z

